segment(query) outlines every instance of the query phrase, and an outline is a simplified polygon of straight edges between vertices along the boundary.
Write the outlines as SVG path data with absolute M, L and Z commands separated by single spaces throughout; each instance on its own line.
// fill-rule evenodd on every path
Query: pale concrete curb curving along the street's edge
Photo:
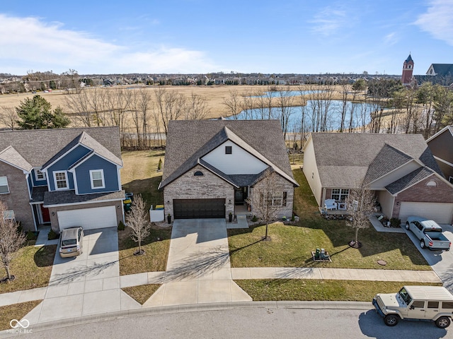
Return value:
M 371 302 L 217 302 L 207 304 L 185 304 L 166 307 L 145 307 L 140 309 L 129 309 L 126 311 L 114 311 L 102 314 L 79 316 L 71 319 L 50 321 L 47 323 L 31 324 L 33 332 L 47 331 L 55 328 L 65 328 L 85 323 L 96 323 L 98 321 L 110 321 L 115 319 L 129 318 L 132 316 L 152 316 L 159 314 L 174 314 L 196 311 L 221 311 L 228 309 L 372 309 Z M 8 333 L 8 330 L 0 331 L 2 338 L 16 336 L 15 333 Z M 6 336 L 4 336 L 6 335 Z

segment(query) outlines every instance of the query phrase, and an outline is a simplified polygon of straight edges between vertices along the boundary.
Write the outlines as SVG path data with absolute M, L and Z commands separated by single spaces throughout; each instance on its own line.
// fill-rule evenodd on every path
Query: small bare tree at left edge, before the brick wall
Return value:
M 0 201 L 0 257 L 1 265 L 6 270 L 7 281 L 11 281 L 9 266 L 13 258 L 18 255 L 18 250 L 25 243 L 25 234 L 18 231 L 16 221 L 5 218 L 6 205 Z

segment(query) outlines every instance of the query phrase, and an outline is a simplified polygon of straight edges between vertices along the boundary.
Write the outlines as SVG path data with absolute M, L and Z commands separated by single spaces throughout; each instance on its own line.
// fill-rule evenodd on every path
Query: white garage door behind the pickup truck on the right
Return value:
M 439 224 L 452 222 L 453 203 L 408 203 L 402 202 L 399 212 L 401 222 L 406 222 L 408 216 L 416 215 L 432 219 Z

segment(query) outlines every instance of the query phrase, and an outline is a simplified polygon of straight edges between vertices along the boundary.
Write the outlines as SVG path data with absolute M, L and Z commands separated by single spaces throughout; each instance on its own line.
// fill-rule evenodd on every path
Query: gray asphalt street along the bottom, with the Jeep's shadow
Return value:
M 154 314 L 98 321 L 22 338 L 453 338 L 453 327 L 401 321 L 384 325 L 374 309 L 252 308 Z M 16 336 L 16 335 L 14 335 Z M 21 337 L 16 337 L 21 338 Z

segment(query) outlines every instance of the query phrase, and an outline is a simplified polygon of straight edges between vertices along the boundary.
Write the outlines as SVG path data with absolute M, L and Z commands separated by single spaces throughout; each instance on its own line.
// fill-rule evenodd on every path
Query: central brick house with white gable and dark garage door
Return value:
M 291 217 L 294 187 L 287 148 L 277 120 L 170 121 L 166 141 L 166 215 L 176 219 L 226 218 L 247 206 L 253 189 L 275 176 L 273 206 Z M 241 206 L 241 207 L 239 207 Z M 247 206 L 256 214 L 253 206 Z

